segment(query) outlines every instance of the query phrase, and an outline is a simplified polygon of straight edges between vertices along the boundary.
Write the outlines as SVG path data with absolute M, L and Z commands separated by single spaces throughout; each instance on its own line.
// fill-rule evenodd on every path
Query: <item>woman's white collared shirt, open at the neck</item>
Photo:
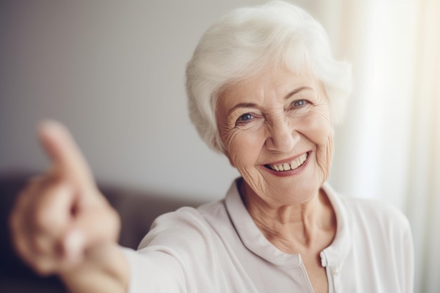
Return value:
M 337 232 L 325 248 L 329 292 L 413 292 L 413 241 L 405 216 L 375 200 L 328 195 Z M 236 181 L 225 200 L 158 217 L 138 251 L 123 249 L 130 291 L 313 292 L 300 254 L 286 254 L 261 233 Z

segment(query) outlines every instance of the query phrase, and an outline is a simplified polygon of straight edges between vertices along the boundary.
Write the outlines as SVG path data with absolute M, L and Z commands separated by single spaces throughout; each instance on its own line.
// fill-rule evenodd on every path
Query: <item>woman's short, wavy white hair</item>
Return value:
M 332 122 L 342 121 L 351 93 L 351 66 L 332 57 L 325 30 L 309 13 L 270 1 L 224 15 L 202 35 L 188 62 L 189 115 L 209 148 L 224 152 L 215 116 L 221 91 L 273 65 L 313 74 L 328 96 Z

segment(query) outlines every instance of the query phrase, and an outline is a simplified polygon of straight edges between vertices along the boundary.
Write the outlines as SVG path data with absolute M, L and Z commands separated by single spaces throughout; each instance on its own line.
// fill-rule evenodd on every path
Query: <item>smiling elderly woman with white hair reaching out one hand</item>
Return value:
M 160 216 L 137 252 L 67 131 L 42 126 L 53 166 L 23 190 L 15 247 L 72 292 L 412 292 L 410 227 L 396 209 L 326 183 L 350 70 L 283 2 L 237 9 L 187 67 L 190 117 L 241 174 L 224 200 Z

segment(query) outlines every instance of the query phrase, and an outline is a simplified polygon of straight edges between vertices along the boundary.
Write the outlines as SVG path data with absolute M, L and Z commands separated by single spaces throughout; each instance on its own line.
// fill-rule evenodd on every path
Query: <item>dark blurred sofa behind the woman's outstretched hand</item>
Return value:
M 1 293 L 61 293 L 67 292 L 55 276 L 41 278 L 15 255 L 8 231 L 8 215 L 15 196 L 25 185 L 30 172 L 0 174 L 0 292 Z M 119 243 L 136 248 L 153 220 L 179 207 L 196 207 L 202 202 L 174 200 L 172 195 L 133 190 L 117 185 L 98 183 L 102 193 L 119 212 L 122 233 Z

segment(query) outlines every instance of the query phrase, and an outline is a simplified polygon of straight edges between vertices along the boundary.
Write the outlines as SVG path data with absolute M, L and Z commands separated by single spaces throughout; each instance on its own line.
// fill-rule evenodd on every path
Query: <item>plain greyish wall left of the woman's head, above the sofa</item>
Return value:
M 0 172 L 46 167 L 35 129 L 53 118 L 100 180 L 222 197 L 238 173 L 190 124 L 184 69 L 214 20 L 264 1 L 63 2 L 0 4 Z

